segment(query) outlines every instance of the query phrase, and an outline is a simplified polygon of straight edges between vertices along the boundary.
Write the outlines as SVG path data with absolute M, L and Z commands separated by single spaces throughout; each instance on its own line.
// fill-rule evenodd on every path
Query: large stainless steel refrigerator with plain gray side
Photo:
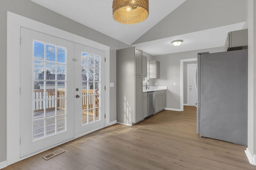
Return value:
M 248 50 L 198 53 L 197 133 L 247 146 Z

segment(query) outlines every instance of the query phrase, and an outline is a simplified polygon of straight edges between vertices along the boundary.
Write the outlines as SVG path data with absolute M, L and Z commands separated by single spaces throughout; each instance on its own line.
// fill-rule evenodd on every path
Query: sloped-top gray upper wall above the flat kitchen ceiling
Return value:
M 246 17 L 245 0 L 186 0 L 133 44 L 240 23 Z

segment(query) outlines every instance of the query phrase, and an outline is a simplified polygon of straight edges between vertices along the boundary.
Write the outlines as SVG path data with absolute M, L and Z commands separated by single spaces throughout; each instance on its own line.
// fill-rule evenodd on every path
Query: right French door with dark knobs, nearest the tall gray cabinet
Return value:
M 76 44 L 75 136 L 105 125 L 104 51 Z

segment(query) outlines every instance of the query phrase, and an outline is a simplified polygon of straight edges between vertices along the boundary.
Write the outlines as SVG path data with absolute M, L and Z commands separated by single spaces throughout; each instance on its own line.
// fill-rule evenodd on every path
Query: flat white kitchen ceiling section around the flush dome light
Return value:
M 183 35 L 176 35 L 174 37 L 138 43 L 132 46 L 143 49 L 143 51 L 151 55 L 163 55 L 214 47 L 223 47 L 224 49 L 227 33 L 242 29 L 244 23 L 245 22 L 241 22 Z M 171 44 L 172 41 L 177 39 L 183 40 L 182 44 L 178 47 Z

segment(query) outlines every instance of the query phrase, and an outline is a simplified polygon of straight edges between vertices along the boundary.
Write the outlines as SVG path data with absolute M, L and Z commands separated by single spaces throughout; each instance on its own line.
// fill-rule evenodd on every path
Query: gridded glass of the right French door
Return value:
M 81 124 L 100 120 L 100 56 L 81 55 Z

